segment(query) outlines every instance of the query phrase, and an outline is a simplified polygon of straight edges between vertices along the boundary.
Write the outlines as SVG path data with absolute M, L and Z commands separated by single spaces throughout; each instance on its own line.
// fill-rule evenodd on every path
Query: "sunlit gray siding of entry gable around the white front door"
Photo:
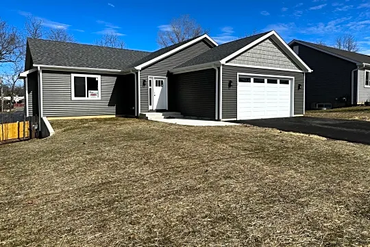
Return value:
M 208 51 L 208 49 L 210 49 L 210 46 L 204 42 L 204 40 L 201 40 L 198 43 L 164 58 L 155 64 L 151 64 L 149 67 L 140 71 L 140 112 L 147 113 L 149 110 L 148 83 L 143 86 L 143 80 L 148 80 L 148 76 L 167 77 L 167 73 L 170 69 L 177 67 L 190 58 L 194 58 L 195 56 Z M 169 80 L 168 83 L 170 84 L 171 80 Z

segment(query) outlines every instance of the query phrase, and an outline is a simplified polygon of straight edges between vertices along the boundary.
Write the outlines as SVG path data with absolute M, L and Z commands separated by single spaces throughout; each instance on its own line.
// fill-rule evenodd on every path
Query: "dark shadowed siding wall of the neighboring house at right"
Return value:
M 291 47 L 297 45 L 298 56 L 313 70 L 306 74 L 306 110 L 314 108 L 317 103 L 330 103 L 334 108 L 350 105 L 351 71 L 357 65 L 305 45 L 293 43 Z M 346 102 L 339 100 L 343 97 L 346 97 Z

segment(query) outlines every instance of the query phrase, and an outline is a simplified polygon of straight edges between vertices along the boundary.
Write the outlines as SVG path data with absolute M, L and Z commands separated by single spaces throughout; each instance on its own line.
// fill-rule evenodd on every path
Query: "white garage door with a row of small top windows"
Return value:
M 291 117 L 290 78 L 238 75 L 237 119 Z

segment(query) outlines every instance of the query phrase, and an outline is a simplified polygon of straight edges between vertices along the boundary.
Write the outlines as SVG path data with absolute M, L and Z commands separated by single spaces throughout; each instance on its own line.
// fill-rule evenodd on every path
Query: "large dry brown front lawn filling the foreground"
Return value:
M 370 146 L 250 126 L 52 125 L 0 146 L 0 246 L 370 244 Z

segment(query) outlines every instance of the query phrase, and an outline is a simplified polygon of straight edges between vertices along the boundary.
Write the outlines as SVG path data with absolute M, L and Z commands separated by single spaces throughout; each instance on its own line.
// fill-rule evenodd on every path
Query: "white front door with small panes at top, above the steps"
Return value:
M 154 78 L 152 89 L 153 89 L 153 110 L 166 110 L 167 78 Z

